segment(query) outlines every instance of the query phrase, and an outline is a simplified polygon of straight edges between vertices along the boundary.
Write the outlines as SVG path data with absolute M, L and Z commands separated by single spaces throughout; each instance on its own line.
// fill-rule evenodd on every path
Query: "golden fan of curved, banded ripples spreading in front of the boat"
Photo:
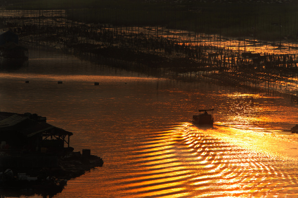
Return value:
M 297 165 L 215 139 L 210 130 L 184 123 L 148 133 L 114 190 L 132 198 L 298 196 Z

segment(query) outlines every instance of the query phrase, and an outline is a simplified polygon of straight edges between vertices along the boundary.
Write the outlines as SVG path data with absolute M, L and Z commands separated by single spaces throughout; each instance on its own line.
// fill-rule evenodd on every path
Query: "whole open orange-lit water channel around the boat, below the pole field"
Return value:
M 104 160 L 56 198 L 298 196 L 298 136 L 285 131 L 298 123 L 291 99 L 29 53 L 28 67 L 0 72 L 0 110 L 46 116 L 74 133 L 76 151 Z M 211 107 L 214 128 L 192 125 L 196 108 Z

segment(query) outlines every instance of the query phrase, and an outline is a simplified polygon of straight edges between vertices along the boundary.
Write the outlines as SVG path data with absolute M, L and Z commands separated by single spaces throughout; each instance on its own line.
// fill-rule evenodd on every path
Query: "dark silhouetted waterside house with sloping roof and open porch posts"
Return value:
M 63 153 L 73 133 L 46 123 L 37 114 L 0 112 L 0 151 Z M 66 144 L 66 147 L 65 147 Z

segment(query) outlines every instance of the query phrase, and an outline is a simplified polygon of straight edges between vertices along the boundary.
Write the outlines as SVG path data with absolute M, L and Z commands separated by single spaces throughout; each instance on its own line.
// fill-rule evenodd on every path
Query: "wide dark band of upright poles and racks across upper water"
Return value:
M 171 29 L 164 25 L 85 23 L 66 10 L 6 10 L 0 29 L 19 35 L 28 48 L 72 53 L 99 65 L 182 80 L 215 79 L 225 84 L 297 94 L 296 41 Z

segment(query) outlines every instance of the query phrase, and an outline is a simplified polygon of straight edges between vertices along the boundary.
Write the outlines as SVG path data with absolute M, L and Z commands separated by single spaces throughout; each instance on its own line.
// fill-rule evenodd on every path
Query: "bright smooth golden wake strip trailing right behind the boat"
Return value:
M 298 161 L 298 135 L 255 126 L 216 124 L 210 135 L 243 148 Z

